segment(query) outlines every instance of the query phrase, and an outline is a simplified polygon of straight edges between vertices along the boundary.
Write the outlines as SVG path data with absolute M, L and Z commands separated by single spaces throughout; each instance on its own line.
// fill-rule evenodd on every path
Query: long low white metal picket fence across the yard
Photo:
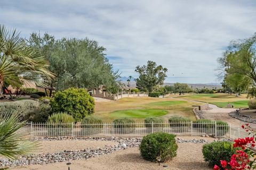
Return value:
M 75 124 L 75 123 L 34 123 L 27 122 L 21 129 L 33 136 L 119 136 L 119 137 L 139 137 L 154 132 L 174 133 L 177 135 L 212 137 L 244 138 L 249 137 L 249 132 L 244 129 L 221 125 L 216 122 L 195 123 L 195 122 L 164 122 L 164 123 L 95 123 L 95 124 Z

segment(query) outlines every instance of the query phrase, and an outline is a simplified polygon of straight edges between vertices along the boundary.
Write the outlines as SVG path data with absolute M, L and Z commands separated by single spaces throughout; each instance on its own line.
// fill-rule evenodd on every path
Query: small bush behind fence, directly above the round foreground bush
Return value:
M 153 129 L 152 129 L 152 122 L 153 122 Z M 162 118 L 157 117 L 149 117 L 145 119 L 147 133 L 154 133 L 163 131 L 163 122 L 164 120 Z

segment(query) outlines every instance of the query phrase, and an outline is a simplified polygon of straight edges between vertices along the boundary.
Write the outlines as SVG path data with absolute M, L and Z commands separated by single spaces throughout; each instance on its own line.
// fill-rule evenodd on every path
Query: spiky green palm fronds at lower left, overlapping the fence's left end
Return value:
M 25 123 L 18 123 L 20 116 L 17 113 L 18 111 L 1 111 L 0 114 L 0 156 L 12 160 L 27 155 L 38 147 L 38 142 L 26 138 L 27 132 L 20 131 Z

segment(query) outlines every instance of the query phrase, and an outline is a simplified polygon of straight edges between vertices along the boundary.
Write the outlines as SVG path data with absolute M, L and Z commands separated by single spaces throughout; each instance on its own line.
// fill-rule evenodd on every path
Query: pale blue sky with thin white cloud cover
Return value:
M 231 40 L 256 32 L 256 1 L 0 0 L 0 24 L 56 38 L 97 40 L 122 76 L 138 77 L 148 60 L 169 71 L 165 82 L 216 83 L 218 57 Z

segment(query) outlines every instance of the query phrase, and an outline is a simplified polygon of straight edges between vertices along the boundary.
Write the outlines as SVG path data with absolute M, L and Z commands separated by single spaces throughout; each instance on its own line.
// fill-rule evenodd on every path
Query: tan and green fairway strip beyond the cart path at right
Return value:
M 171 96 L 172 97 L 172 96 Z M 247 99 L 245 94 L 242 94 L 239 97 L 236 95 L 229 95 L 223 93 L 217 94 L 188 94 L 184 96 L 174 96 L 175 98 L 183 98 L 189 100 L 202 101 L 205 103 L 211 103 L 217 105 L 218 107 L 226 107 L 228 103 L 233 104 L 235 108 L 245 108 L 248 107 Z

